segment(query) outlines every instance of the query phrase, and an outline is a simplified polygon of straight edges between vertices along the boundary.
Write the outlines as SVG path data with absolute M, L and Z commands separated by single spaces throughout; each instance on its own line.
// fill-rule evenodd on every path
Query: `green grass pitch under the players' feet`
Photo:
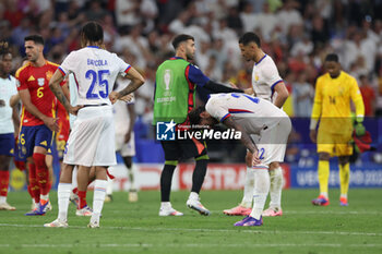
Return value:
M 212 210 L 202 217 L 186 207 L 188 192 L 174 192 L 172 206 L 183 217 L 158 217 L 159 192 L 140 192 L 135 204 L 127 193 L 115 193 L 105 204 L 99 229 L 88 229 L 88 218 L 74 215 L 70 205 L 67 229 L 44 228 L 57 217 L 26 217 L 31 206 L 26 192 L 12 192 L 8 201 L 16 211 L 0 211 L 0 253 L 382 253 L 382 190 L 350 190 L 350 206 L 313 207 L 317 190 L 283 193 L 284 216 L 265 218 L 264 226 L 236 228 L 241 217 L 222 210 L 235 206 L 241 191 L 204 191 L 203 204 Z M 89 204 L 93 192 L 88 193 Z

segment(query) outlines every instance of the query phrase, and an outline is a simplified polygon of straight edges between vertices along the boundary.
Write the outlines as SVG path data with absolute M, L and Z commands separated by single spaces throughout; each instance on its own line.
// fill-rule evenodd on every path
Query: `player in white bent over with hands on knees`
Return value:
M 261 226 L 262 213 L 270 191 L 270 165 L 284 161 L 291 130 L 288 116 L 272 102 L 246 94 L 211 95 L 204 107 L 189 113 L 190 123 L 212 126 L 218 122 L 241 132 L 241 142 L 251 156 L 254 174 L 253 207 L 249 216 L 235 226 Z M 259 135 L 258 144 L 251 135 Z

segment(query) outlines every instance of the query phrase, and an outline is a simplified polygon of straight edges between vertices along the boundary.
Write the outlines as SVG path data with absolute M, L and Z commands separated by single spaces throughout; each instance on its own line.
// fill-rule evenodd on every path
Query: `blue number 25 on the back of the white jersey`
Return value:
M 105 78 L 105 75 L 109 75 L 109 70 L 88 70 L 85 73 L 85 77 L 92 80 L 91 87 L 86 93 L 87 99 L 107 98 L 109 95 L 109 82 Z M 99 95 L 99 96 L 98 96 Z

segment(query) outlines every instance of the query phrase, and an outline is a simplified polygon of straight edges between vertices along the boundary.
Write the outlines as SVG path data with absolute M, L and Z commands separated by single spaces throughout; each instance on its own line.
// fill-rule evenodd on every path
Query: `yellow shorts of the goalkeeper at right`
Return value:
M 353 155 L 351 132 L 346 133 L 329 133 L 319 131 L 317 137 L 317 152 L 327 153 L 333 156 L 350 156 Z

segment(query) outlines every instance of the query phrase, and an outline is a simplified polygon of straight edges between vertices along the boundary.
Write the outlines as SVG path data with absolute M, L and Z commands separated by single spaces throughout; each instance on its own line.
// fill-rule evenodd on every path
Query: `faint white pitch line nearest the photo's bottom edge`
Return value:
M 107 244 L 0 244 L 0 247 L 382 247 L 382 244 L 341 244 L 341 243 L 237 243 L 237 244 L 210 244 L 210 243 L 179 243 L 179 244 L 151 244 L 151 243 L 107 243 Z

